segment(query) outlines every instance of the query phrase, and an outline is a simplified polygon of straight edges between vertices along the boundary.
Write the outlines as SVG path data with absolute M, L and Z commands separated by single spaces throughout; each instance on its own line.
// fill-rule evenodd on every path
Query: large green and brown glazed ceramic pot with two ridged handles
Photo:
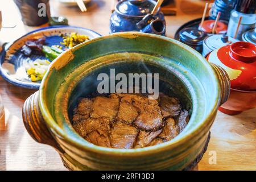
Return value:
M 160 91 L 179 97 L 191 114 L 176 138 L 156 146 L 117 149 L 81 138 L 70 123 L 79 97 L 96 91 L 98 73 L 159 73 Z M 61 54 L 39 92 L 23 107 L 36 141 L 56 148 L 69 169 L 184 169 L 203 151 L 217 108 L 229 96 L 226 72 L 174 39 L 122 32 L 82 43 Z

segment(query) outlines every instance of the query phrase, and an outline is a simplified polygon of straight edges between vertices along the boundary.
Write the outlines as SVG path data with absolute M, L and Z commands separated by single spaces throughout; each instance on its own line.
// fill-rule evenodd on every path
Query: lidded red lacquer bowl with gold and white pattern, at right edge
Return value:
M 207 60 L 220 65 L 228 73 L 231 92 L 219 110 L 234 115 L 256 107 L 256 46 L 236 42 L 214 50 Z

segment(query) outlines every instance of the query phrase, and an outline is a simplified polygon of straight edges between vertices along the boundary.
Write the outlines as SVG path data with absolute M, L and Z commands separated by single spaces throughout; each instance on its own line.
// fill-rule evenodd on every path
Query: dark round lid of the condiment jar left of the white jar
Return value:
M 198 30 L 198 28 L 189 27 L 180 31 L 179 39 L 181 42 L 194 46 L 203 44 L 203 40 L 206 36 L 207 34 L 201 30 Z

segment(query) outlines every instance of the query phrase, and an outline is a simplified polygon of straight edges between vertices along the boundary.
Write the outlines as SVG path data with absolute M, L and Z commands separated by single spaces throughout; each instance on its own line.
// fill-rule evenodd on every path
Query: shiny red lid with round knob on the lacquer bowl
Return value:
M 238 90 L 256 90 L 256 46 L 236 42 L 209 54 L 207 59 L 228 72 L 231 87 Z

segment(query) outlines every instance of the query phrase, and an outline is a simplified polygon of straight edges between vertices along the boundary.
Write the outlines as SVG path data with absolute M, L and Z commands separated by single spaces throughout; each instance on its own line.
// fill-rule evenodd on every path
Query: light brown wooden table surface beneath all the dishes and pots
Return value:
M 35 27 L 24 26 L 11 0 L 0 2 L 4 26 L 17 24 L 15 28 L 3 28 L 2 42 L 11 41 Z M 205 1 L 204 1 L 205 2 Z M 199 18 L 204 2 L 192 0 L 177 1 L 177 16 L 167 16 L 167 36 L 173 37 L 181 24 Z M 65 7 L 51 0 L 52 15 L 63 15 L 69 24 L 93 29 L 108 35 L 111 3 L 108 0 L 94 0 L 88 11 L 81 13 L 77 7 Z M 183 10 L 179 10 L 183 7 Z M 197 12 L 197 13 L 195 13 Z M 52 147 L 36 143 L 27 133 L 22 121 L 22 106 L 35 90 L 18 88 L 0 77 L 0 94 L 5 106 L 5 119 L 0 120 L 0 170 L 66 170 L 59 155 Z M 256 109 L 236 116 L 218 112 L 211 129 L 208 150 L 198 170 L 256 169 Z M 216 160 L 214 160 L 216 159 Z

